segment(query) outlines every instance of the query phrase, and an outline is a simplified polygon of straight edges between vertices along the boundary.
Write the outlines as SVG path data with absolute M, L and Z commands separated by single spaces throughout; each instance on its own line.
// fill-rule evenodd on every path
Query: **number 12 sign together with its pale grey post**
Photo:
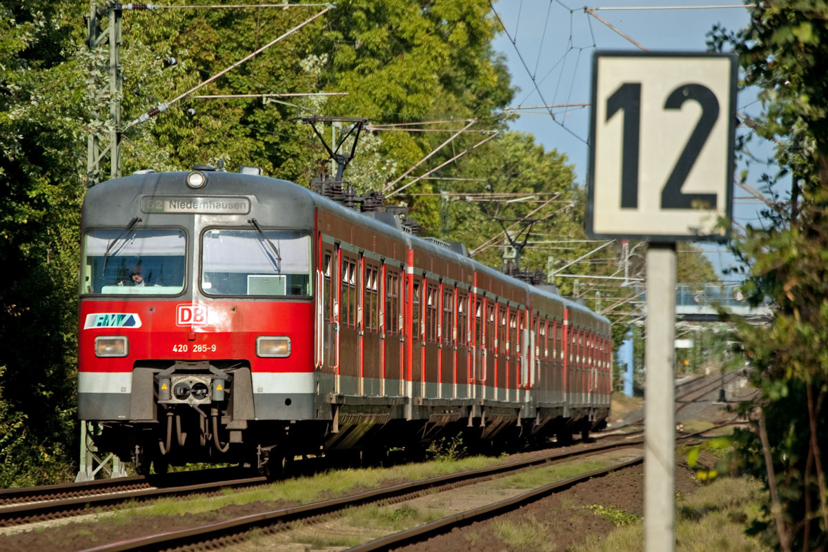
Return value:
M 595 52 L 586 232 L 647 250 L 644 548 L 675 549 L 676 242 L 732 210 L 735 55 Z

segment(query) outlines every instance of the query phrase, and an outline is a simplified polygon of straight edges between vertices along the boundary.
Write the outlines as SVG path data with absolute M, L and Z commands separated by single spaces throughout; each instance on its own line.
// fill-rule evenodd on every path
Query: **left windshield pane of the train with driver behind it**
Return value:
M 96 229 L 84 234 L 81 293 L 178 295 L 186 237 L 176 228 Z

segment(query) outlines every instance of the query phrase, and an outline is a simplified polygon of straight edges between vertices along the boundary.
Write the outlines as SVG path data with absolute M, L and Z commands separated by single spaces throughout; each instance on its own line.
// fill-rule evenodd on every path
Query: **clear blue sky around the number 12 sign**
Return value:
M 741 3 L 738 0 L 587 2 L 586 7 L 739 6 Z M 498 36 L 494 47 L 506 56 L 513 84 L 520 89 L 513 107 L 589 103 L 593 52 L 596 49 L 638 50 L 618 32 L 585 13 L 584 4 L 575 4 L 575 0 L 500 0 L 494 8 L 508 31 L 508 36 L 506 33 Z M 716 24 L 735 31 L 749 22 L 748 10 L 744 7 L 597 9 L 594 13 L 647 50 L 704 51 L 707 50 L 707 34 Z M 534 77 L 534 83 L 530 75 Z M 739 94 L 737 109 L 740 113 L 757 114 L 760 107 L 755 91 L 746 90 Z M 555 120 L 544 109 L 522 110 L 511 127 L 531 132 L 547 150 L 565 153 L 575 166 L 579 183 L 583 184 L 588 168 L 589 147 L 585 142 L 589 137 L 590 108 L 555 108 L 553 112 Z M 748 131 L 741 129 L 739 132 Z M 767 157 L 771 152 L 768 145 L 758 146 L 756 151 L 760 157 Z M 737 172 L 742 168 L 737 166 Z M 750 174 L 756 187 L 760 174 L 761 170 Z M 747 195 L 744 190 L 734 190 L 737 198 L 734 200 L 734 218 L 743 225 L 757 225 L 761 223 L 758 201 L 738 199 Z M 717 270 L 732 263 L 728 254 L 720 253 L 722 246 L 710 244 L 704 247 Z

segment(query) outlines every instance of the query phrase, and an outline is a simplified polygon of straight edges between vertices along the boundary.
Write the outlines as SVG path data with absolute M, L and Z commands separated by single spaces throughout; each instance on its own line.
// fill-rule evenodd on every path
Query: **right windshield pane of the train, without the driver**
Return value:
M 310 295 L 310 235 L 212 229 L 204 234 L 201 289 L 210 295 Z

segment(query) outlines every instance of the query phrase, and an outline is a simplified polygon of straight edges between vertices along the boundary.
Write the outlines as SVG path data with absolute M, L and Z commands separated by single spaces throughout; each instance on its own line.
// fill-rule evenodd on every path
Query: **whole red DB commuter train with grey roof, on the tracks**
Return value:
M 146 473 L 542 440 L 609 414 L 609 321 L 299 185 L 196 166 L 90 189 L 79 418 Z

